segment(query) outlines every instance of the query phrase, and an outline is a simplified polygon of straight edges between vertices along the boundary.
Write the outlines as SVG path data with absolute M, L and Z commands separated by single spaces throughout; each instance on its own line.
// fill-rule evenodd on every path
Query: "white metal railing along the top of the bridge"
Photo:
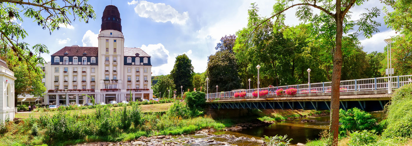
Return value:
M 354 92 L 354 91 L 374 91 L 374 90 L 388 90 L 388 77 L 367 78 L 357 80 L 342 80 L 340 81 L 340 92 Z M 259 88 L 260 91 L 268 90 L 268 95 L 276 95 L 278 89 L 297 89 L 296 94 L 306 93 L 329 93 L 332 82 L 318 82 L 311 84 L 287 85 L 278 87 Z M 391 77 L 391 88 L 398 89 L 403 85 L 412 84 L 412 75 L 399 75 Z M 205 98 L 221 98 L 234 97 L 235 93 L 246 92 L 247 97 L 253 96 L 252 93 L 258 89 L 244 89 L 228 92 L 209 93 Z

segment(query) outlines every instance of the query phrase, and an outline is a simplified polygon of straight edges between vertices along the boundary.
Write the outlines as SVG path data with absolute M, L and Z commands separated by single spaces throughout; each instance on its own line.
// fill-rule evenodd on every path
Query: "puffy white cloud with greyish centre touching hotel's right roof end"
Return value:
M 159 43 L 156 45 L 142 45 L 140 47 L 143 51 L 150 55 L 150 63 L 152 66 L 161 66 L 168 63 L 169 51 Z

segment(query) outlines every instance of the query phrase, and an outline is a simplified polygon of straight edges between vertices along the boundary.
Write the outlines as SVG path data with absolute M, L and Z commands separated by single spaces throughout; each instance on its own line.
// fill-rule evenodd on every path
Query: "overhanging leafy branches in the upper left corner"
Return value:
M 24 42 L 28 33 L 18 22 L 23 23 L 24 17 L 33 19 L 33 22 L 52 34 L 76 19 L 86 23 L 89 19 L 95 19 L 93 7 L 87 2 L 88 0 L 0 0 L 1 54 L 12 51 L 11 55 L 15 57 L 11 61 L 23 61 L 28 65 L 29 71 L 40 74 L 42 71 L 36 65 L 44 64 L 44 58 L 40 55 L 49 53 L 49 50 L 43 44 L 30 46 Z

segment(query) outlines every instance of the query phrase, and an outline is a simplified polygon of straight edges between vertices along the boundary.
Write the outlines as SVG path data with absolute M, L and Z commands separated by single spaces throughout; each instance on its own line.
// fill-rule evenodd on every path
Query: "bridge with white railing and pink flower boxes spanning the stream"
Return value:
M 340 108 L 381 111 L 391 100 L 389 90 L 396 90 L 407 84 L 412 84 L 412 75 L 340 81 Z M 330 85 L 331 82 L 319 82 L 209 93 L 206 94 L 206 103 L 210 108 L 221 109 L 330 110 Z M 290 88 L 297 90 L 295 95 L 276 94 L 278 89 Z M 253 92 L 258 91 L 267 91 L 267 94 L 259 98 L 253 96 Z M 235 97 L 235 94 L 242 92 L 246 93 L 245 97 Z

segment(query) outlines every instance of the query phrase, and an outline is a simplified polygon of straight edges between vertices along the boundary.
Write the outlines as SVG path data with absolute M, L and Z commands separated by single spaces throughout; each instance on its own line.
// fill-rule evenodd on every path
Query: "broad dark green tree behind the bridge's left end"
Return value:
M 216 91 L 216 85 L 218 85 L 219 92 L 241 87 L 236 59 L 229 50 L 218 51 L 216 54 L 209 56 L 207 76 L 209 78 L 210 91 Z

